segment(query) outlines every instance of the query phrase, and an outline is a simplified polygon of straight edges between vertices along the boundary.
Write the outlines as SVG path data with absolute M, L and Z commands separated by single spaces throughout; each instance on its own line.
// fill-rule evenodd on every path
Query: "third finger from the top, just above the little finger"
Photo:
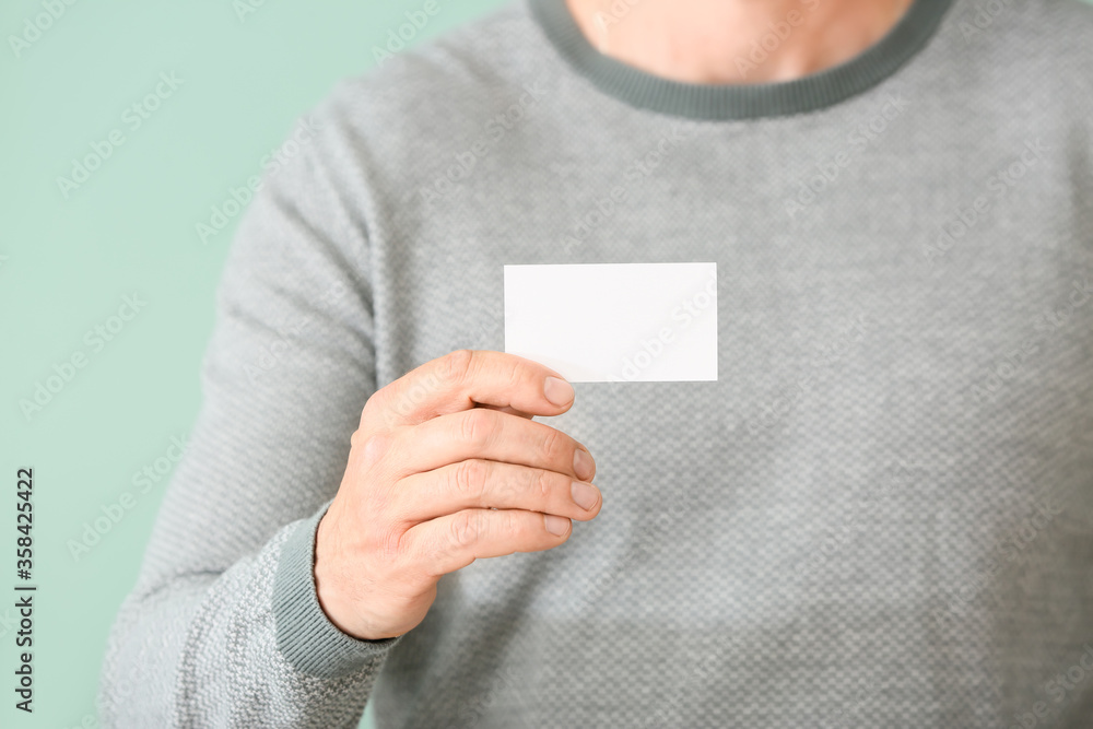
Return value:
M 412 524 L 468 508 L 524 509 L 587 521 L 600 490 L 555 471 L 469 459 L 402 479 L 391 495 L 396 518 Z

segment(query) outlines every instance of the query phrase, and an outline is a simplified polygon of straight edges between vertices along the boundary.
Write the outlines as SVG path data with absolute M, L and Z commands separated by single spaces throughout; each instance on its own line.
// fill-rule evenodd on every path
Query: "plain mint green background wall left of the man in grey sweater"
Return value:
M 502 3 L 437 0 L 420 43 Z M 373 47 L 424 0 L 266 0 L 240 22 L 232 0 L 83 0 L 21 58 L 8 36 L 43 11 L 0 3 L 0 726 L 77 727 L 94 715 L 107 630 L 132 587 L 165 481 L 78 563 L 84 521 L 188 434 L 213 293 L 233 225 L 202 246 L 210 207 L 261 172 L 295 117 L 340 78 L 374 66 Z M 184 85 L 140 129 L 121 113 L 161 71 Z M 126 142 L 64 200 L 58 175 L 115 128 Z M 148 306 L 99 353 L 84 332 L 140 292 Z M 87 365 L 30 422 L 33 397 L 75 350 Z M 35 713 L 14 708 L 15 471 L 35 469 Z

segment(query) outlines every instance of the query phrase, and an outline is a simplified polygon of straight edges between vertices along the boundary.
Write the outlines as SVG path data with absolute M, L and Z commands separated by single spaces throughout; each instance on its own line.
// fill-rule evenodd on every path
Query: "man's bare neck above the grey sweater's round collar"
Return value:
M 789 81 L 851 59 L 912 0 L 565 0 L 600 52 L 690 83 Z

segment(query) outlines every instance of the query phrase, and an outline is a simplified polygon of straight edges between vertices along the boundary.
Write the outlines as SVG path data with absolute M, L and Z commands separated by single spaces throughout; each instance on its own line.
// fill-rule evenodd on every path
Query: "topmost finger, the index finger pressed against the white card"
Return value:
M 381 425 L 416 425 L 477 404 L 528 415 L 559 415 L 573 404 L 573 387 L 531 360 L 489 350 L 458 350 L 426 362 L 369 399 Z M 369 409 L 365 408 L 365 416 Z M 379 425 L 380 423 L 376 423 Z

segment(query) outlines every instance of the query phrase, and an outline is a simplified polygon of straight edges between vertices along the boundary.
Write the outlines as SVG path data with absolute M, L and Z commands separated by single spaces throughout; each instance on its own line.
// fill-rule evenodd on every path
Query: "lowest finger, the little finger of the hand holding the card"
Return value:
M 409 529 L 402 536 L 402 544 L 419 569 L 439 577 L 462 569 L 474 560 L 552 549 L 565 542 L 572 532 L 572 522 L 554 515 L 520 509 L 463 509 Z

